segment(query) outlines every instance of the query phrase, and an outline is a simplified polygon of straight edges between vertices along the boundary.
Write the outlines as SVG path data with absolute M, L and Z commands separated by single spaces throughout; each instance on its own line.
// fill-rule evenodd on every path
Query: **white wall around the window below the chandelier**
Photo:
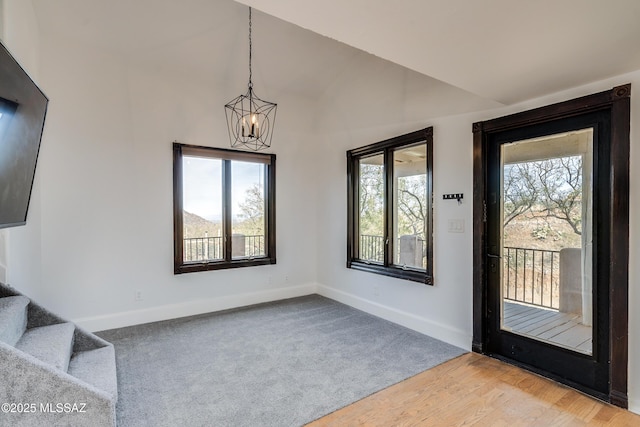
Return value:
M 314 104 L 277 95 L 277 264 L 174 275 L 171 143 L 228 147 L 223 106 L 245 88 L 227 95 L 213 77 L 52 36 L 40 62 L 51 100 L 39 163 L 47 307 L 99 330 L 314 291 L 316 203 L 301 179 L 315 164 L 313 114 L 302 114 Z

